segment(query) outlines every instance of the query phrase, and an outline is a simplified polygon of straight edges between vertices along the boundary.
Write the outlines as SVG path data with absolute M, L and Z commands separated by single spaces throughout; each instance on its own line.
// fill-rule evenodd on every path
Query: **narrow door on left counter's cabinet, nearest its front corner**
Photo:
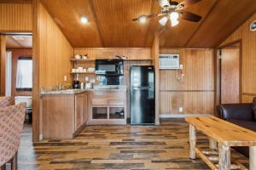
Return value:
M 84 94 L 75 95 L 75 129 L 83 125 Z

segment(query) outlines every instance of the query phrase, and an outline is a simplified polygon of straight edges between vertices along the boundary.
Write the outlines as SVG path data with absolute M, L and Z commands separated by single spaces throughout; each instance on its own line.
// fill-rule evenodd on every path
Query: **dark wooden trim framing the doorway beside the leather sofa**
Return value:
M 224 45 L 219 46 L 216 48 L 216 99 L 215 103 L 216 105 L 219 105 L 221 103 L 221 59 L 218 59 L 219 57 L 219 50 L 223 48 L 230 47 L 236 43 L 239 43 L 239 102 L 241 103 L 241 96 L 242 96 L 242 89 L 241 89 L 241 75 L 242 75 L 242 39 L 238 39 L 233 42 L 225 43 Z

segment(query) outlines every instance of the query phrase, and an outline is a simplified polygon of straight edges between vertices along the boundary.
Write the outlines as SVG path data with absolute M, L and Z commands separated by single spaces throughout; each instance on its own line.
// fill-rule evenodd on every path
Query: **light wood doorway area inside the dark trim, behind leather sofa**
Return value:
M 218 48 L 219 104 L 241 102 L 241 42 Z

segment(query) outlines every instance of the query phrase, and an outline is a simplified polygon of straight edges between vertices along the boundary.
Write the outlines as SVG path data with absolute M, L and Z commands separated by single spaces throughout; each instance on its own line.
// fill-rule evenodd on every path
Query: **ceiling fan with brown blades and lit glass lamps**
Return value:
M 190 13 L 189 11 L 185 11 L 183 9 L 201 1 L 202 0 L 184 0 L 182 3 L 177 3 L 172 0 L 158 0 L 158 3 L 162 8 L 160 14 L 143 14 L 140 15 L 138 18 L 133 19 L 133 21 L 138 20 L 141 23 L 145 23 L 148 19 L 160 17 L 161 19 L 159 20 L 159 23 L 161 26 L 166 26 L 168 20 L 171 21 L 172 26 L 177 26 L 177 24 L 179 23 L 179 18 L 192 22 L 199 22 L 201 20 L 200 15 Z

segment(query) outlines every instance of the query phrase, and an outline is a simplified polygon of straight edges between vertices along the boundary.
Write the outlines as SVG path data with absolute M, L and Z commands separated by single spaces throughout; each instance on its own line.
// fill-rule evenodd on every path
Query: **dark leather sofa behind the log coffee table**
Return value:
M 235 123 L 236 125 L 256 132 L 256 115 L 253 111 L 255 101 L 256 98 L 253 99 L 253 104 L 218 105 L 217 116 L 228 122 Z M 249 157 L 248 147 L 234 147 L 234 149 L 241 152 L 244 156 Z

